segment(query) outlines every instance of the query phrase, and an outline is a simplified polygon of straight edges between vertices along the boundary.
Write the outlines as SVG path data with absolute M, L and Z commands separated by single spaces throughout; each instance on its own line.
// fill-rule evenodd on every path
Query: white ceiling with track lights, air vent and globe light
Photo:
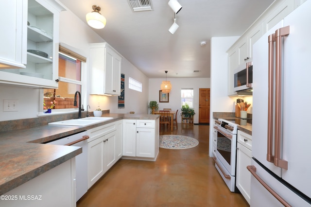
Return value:
M 86 22 L 92 5 L 106 17 L 104 29 L 93 29 L 148 78 L 210 77 L 210 39 L 240 36 L 273 0 L 179 0 L 173 24 L 169 0 L 151 0 L 152 11 L 133 12 L 128 0 L 59 0 Z M 206 41 L 205 46 L 200 42 Z M 200 70 L 200 72 L 193 72 Z

